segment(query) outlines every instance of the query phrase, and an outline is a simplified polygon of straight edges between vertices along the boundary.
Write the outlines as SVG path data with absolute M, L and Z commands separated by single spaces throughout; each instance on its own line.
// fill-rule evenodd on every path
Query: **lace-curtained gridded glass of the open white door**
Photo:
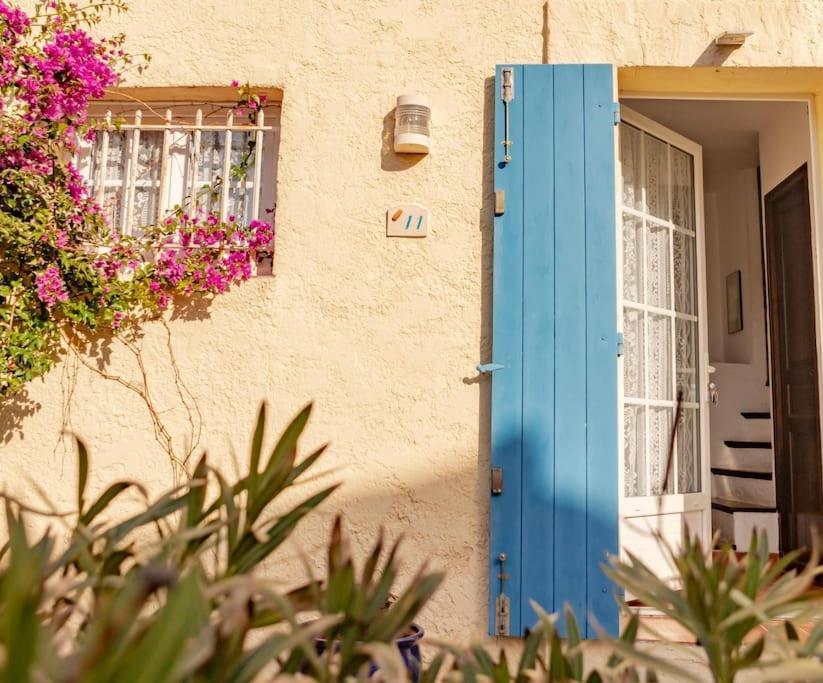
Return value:
M 701 491 L 694 159 L 620 124 L 624 495 Z M 668 482 L 678 395 L 681 416 Z

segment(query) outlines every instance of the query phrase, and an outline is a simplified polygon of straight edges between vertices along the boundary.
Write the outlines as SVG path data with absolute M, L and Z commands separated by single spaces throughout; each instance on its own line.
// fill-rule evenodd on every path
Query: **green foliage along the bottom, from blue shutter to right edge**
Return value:
M 678 683 L 731 683 L 744 672 L 749 681 L 823 681 L 823 601 L 815 589 L 823 567 L 818 567 L 816 551 L 797 570 L 793 566 L 800 553 L 771 559 L 765 534 L 753 535 L 748 554 L 740 557 L 730 546 L 712 552 L 695 538 L 687 538 L 679 550 L 662 536 L 655 538 L 673 567 L 671 578 L 660 578 L 632 555 L 626 561 L 612 558 L 604 569 L 621 589 L 682 626 L 694 645 L 670 642 L 646 624 L 641 626 L 625 604 L 626 625 L 620 638 L 601 633 L 599 643 L 582 642 L 567 608 L 563 639 L 556 615 L 534 605 L 540 621 L 527 635 L 516 663 L 509 662 L 503 649 L 492 656 L 481 646 L 446 646 L 432 661 L 425 683 L 651 683 L 658 674 Z M 803 639 L 800 624 L 811 624 Z M 651 636 L 659 643 L 651 646 L 639 642 L 638 636 Z M 601 661 L 605 648 L 606 663 L 586 667 L 595 648 Z M 684 659 L 695 665 L 678 664 Z

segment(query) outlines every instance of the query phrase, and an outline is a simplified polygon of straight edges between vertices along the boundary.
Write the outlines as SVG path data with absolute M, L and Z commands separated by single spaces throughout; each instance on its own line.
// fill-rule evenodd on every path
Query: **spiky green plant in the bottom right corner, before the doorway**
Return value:
M 712 553 L 689 534 L 676 551 L 660 536 L 657 542 L 674 567 L 674 582 L 659 578 L 631 554 L 625 562 L 614 561 L 606 573 L 692 635 L 712 680 L 731 683 L 745 671 L 756 672 L 759 681 L 823 680 L 823 604 L 815 587 L 823 567 L 816 549 L 797 570 L 803 553 L 771 559 L 765 532 L 753 534 L 749 552 L 740 557 L 729 545 Z M 795 624 L 812 626 L 802 643 Z M 616 652 L 678 681 L 705 680 L 626 643 L 611 643 Z

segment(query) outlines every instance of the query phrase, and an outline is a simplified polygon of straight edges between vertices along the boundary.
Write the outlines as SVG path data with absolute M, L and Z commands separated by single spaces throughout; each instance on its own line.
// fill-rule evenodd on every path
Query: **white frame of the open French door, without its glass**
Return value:
M 626 106 L 621 107 L 621 120 L 631 124 L 654 137 L 677 147 L 690 154 L 693 158 L 694 173 L 694 212 L 695 212 L 695 258 L 697 265 L 696 272 L 696 292 L 697 292 L 697 317 L 698 317 L 698 357 L 696 358 L 696 403 L 700 418 L 699 439 L 700 439 L 700 479 L 701 491 L 693 494 L 671 493 L 666 495 L 653 495 L 627 498 L 624 495 L 624 439 L 619 440 L 618 453 L 620 458 L 618 484 L 620 486 L 619 510 L 621 536 L 626 528 L 626 524 L 632 524 L 630 520 L 638 518 L 648 518 L 653 520 L 659 515 L 673 513 L 699 512 L 699 528 L 692 528 L 693 533 L 697 533 L 704 544 L 708 544 L 711 539 L 711 458 L 709 451 L 709 355 L 708 355 L 708 316 L 706 301 L 706 258 L 705 258 L 705 225 L 703 206 L 703 153 L 702 147 L 688 138 L 666 128 L 660 123 L 643 116 Z M 617 244 L 623 242 L 623 220 L 622 220 L 622 177 L 619 155 L 617 157 Z M 618 246 L 618 323 L 623 329 L 623 259 L 622 249 Z M 673 286 L 673 285 L 672 285 Z M 674 306 L 674 302 L 672 302 Z M 648 341 L 648 340 L 647 340 Z M 676 339 L 672 338 L 672 343 Z M 623 358 L 618 362 L 618 387 L 620 395 L 620 421 L 621 434 L 623 429 Z M 674 358 L 671 361 L 674 364 Z M 676 369 L 673 367 L 672 372 Z M 674 477 L 676 481 L 676 476 Z M 659 520 L 662 523 L 662 519 Z M 654 528 L 652 526 L 652 528 Z M 651 540 L 651 539 L 650 539 Z M 625 553 L 623 539 L 621 538 L 621 554 Z M 637 554 L 639 549 L 634 548 Z

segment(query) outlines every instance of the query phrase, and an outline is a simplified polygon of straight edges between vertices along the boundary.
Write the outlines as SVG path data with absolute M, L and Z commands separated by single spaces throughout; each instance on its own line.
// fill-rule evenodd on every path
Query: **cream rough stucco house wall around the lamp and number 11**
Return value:
M 130 85 L 237 78 L 284 93 L 275 277 L 220 298 L 201 319 L 168 325 L 202 413 L 199 448 L 231 468 L 246 451 L 259 400 L 269 401 L 275 429 L 316 400 L 307 445 L 331 440 L 328 476 L 345 485 L 302 527 L 301 547 L 322 543 L 335 508 L 360 547 L 378 525 L 404 532 L 410 565 L 428 557 L 450 570 L 423 617 L 428 630 L 460 639 L 483 633 L 489 391 L 474 365 L 491 347 L 494 65 L 548 56 L 620 66 L 823 66 L 823 4 L 551 0 L 547 21 L 542 0 L 132 5 L 108 24 L 128 34 L 133 51 L 153 55 Z M 708 48 L 740 27 L 755 31 L 742 49 Z M 624 76 L 639 82 L 637 72 Z M 433 151 L 417 162 L 389 151 L 394 98 L 407 90 L 428 94 L 433 107 Z M 411 199 L 431 207 L 429 236 L 386 239 L 385 208 Z M 151 390 L 182 448 L 191 429 L 171 379 L 166 328 L 150 324 L 145 333 Z M 111 363 L 136 376 L 116 344 Z M 156 490 L 171 481 L 144 404 L 66 362 L 3 409 L 4 485 L 34 498 L 36 484 L 69 506 L 74 457 L 64 426 L 91 445 L 93 483 L 134 477 Z

